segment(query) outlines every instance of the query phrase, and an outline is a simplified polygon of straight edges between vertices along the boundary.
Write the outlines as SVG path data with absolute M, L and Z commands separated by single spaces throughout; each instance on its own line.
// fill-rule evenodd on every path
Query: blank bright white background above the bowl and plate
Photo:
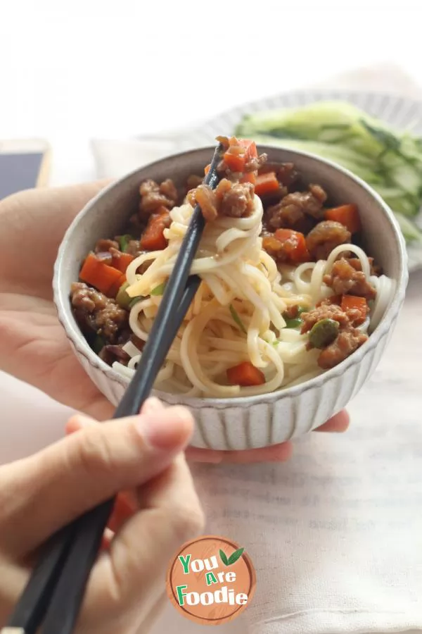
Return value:
M 41 136 L 52 182 L 93 176 L 90 137 L 188 125 L 394 61 L 422 83 L 419 0 L 0 0 L 0 139 Z

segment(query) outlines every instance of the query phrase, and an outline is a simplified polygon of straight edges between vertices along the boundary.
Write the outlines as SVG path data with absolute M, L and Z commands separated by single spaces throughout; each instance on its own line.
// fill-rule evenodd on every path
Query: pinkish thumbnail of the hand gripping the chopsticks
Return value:
M 182 407 L 139 416 L 136 428 L 152 449 L 170 451 L 186 447 L 192 433 L 192 417 Z

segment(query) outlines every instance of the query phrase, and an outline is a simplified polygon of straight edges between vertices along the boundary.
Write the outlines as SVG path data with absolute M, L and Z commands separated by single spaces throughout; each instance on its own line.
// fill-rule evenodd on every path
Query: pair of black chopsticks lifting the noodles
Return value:
M 217 185 L 217 164 L 222 146 L 215 149 L 204 183 Z M 131 383 L 113 418 L 134 416 L 151 392 L 174 337 L 200 285 L 190 275 L 205 226 L 196 205 L 170 275 L 157 316 Z M 46 543 L 44 553 L 15 607 L 8 626 L 0 634 L 71 634 L 115 499 L 107 500 L 58 531 Z

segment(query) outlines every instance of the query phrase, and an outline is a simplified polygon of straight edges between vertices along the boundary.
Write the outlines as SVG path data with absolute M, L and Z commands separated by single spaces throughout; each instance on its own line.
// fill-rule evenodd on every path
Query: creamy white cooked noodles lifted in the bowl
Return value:
M 142 298 L 130 311 L 129 325 L 143 341 L 148 339 L 161 301 L 151 291 L 172 272 L 192 212 L 190 204 L 172 209 L 172 224 L 165 230 L 168 246 L 142 254 L 127 268 L 127 294 Z M 283 312 L 295 304 L 311 309 L 333 294 L 323 278 L 342 251 L 352 251 L 359 258 L 367 278 L 369 259 L 359 247 L 342 244 L 333 249 L 327 261 L 278 269 L 262 249 L 262 213 L 262 203 L 255 196 L 254 209 L 247 218 L 218 217 L 205 226 L 191 268 L 202 282 L 158 374 L 156 389 L 188 396 L 252 396 L 295 385 L 322 372 L 316 363 L 319 351 L 307 350 L 307 335 L 285 328 Z M 146 272 L 136 273 L 147 261 L 151 265 Z M 377 296 L 371 321 L 360 326 L 364 332 L 376 326 L 391 292 L 390 280 L 384 275 L 371 278 L 371 282 Z M 128 366 L 115 362 L 113 368 L 130 378 L 141 354 L 132 343 L 124 350 L 131 357 Z M 242 361 L 262 370 L 263 385 L 227 385 L 227 369 Z

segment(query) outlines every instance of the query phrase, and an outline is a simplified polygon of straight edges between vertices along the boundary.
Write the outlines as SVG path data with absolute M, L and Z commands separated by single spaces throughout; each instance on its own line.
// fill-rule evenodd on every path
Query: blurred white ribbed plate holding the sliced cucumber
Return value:
M 180 149 L 191 149 L 213 144 L 217 135 L 231 135 L 246 114 L 273 110 L 276 108 L 295 108 L 305 106 L 313 101 L 349 101 L 362 108 L 370 115 L 384 120 L 398 130 L 411 129 L 422 137 L 422 101 L 395 97 L 391 94 L 371 92 L 349 92 L 345 90 L 306 90 L 278 94 L 260 101 L 251 101 L 233 110 L 226 111 L 219 116 L 203 123 L 199 128 L 185 132 L 178 139 Z M 422 227 L 421 214 L 418 224 Z M 422 268 L 422 244 L 411 245 L 407 249 L 409 255 L 409 271 Z

